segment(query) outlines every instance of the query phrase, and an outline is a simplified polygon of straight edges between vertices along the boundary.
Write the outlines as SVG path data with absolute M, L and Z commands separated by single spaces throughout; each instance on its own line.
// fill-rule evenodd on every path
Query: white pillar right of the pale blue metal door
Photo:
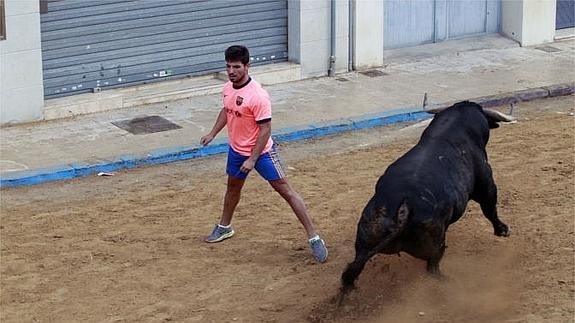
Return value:
M 521 46 L 552 42 L 555 10 L 554 0 L 503 0 L 501 33 Z

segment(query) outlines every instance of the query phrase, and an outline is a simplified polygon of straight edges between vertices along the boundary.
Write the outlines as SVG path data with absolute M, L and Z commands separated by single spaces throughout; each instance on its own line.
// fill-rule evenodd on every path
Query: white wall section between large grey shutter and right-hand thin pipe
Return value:
M 325 76 L 331 56 L 331 5 L 336 7 L 335 70 L 347 71 L 349 62 L 349 2 L 300 0 L 288 3 L 289 59 L 301 64 L 302 77 Z

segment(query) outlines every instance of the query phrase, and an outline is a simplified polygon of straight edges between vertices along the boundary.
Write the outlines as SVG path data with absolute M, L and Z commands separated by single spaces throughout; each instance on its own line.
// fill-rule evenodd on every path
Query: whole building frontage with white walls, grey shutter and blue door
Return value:
M 381 67 L 386 50 L 462 37 L 500 33 L 522 46 L 551 42 L 559 25 L 572 27 L 572 4 L 0 0 L 0 123 L 48 119 L 46 106 L 61 97 L 216 73 L 223 51 L 236 43 L 250 48 L 253 65 L 297 64 L 303 79 Z M 566 23 L 557 22 L 558 12 L 568 13 Z

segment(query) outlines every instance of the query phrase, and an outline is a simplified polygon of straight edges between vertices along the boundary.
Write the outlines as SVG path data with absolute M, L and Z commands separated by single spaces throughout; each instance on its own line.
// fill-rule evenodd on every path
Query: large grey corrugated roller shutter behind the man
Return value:
M 46 97 L 287 60 L 287 0 L 61 0 L 41 16 Z

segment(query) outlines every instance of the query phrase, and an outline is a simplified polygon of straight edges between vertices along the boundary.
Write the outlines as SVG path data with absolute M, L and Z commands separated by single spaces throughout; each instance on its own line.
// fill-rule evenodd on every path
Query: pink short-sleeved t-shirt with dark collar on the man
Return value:
M 241 155 L 250 156 L 260 133 L 257 122 L 272 117 L 269 95 L 258 82 L 250 80 L 241 89 L 234 89 L 228 81 L 223 96 L 230 146 Z M 272 145 L 270 136 L 262 153 L 268 152 Z

